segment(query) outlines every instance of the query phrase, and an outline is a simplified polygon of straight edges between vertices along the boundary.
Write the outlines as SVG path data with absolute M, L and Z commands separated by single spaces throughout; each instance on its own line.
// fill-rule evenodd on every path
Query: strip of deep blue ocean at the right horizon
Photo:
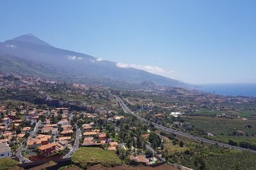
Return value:
M 200 84 L 197 90 L 225 96 L 256 96 L 256 83 Z

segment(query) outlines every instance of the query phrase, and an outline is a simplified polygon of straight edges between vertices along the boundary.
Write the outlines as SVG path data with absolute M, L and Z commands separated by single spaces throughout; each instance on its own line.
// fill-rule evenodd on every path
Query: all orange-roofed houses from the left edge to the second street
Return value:
M 60 112 L 61 120 L 51 124 L 51 116 L 57 117 Z M 1 106 L 0 115 L 0 158 L 11 157 L 24 144 L 26 156 L 33 160 L 44 159 L 72 147 L 74 132 L 67 108 L 49 111 L 19 106 L 17 111 Z M 46 120 L 38 124 L 42 115 Z

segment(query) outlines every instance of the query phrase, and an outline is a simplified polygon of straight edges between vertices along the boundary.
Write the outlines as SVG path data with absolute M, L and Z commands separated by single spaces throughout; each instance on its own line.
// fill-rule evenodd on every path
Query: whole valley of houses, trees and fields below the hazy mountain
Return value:
M 54 168 L 195 169 L 215 166 L 202 153 L 251 157 L 256 150 L 255 97 L 118 90 L 6 72 L 0 94 L 0 160 L 19 168 L 53 161 Z

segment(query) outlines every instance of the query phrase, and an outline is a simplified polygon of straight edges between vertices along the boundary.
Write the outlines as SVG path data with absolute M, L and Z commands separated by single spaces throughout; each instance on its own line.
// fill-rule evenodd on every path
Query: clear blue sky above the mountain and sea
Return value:
M 58 48 L 189 83 L 256 83 L 256 1 L 1 1 L 0 41 Z

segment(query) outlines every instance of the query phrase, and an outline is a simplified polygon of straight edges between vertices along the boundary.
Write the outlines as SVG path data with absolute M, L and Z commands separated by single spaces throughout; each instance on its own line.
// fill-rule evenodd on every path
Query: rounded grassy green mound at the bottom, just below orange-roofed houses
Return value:
M 101 148 L 82 147 L 71 157 L 77 166 L 86 169 L 88 166 L 101 164 L 104 167 L 114 167 L 122 164 L 115 152 Z

